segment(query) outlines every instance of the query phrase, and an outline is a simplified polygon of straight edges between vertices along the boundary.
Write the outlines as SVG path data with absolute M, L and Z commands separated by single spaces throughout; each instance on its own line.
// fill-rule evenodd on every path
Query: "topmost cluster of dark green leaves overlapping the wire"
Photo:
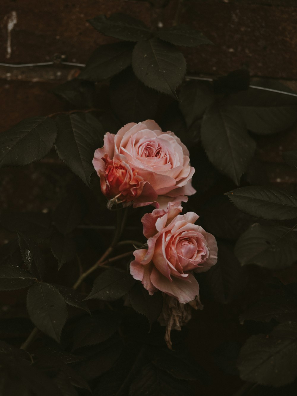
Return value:
M 79 78 L 101 81 L 132 65 L 143 84 L 173 97 L 186 74 L 185 58 L 175 46 L 212 44 L 187 25 L 153 31 L 139 19 L 121 13 L 109 18 L 99 15 L 89 23 L 99 32 L 124 42 L 96 49 Z

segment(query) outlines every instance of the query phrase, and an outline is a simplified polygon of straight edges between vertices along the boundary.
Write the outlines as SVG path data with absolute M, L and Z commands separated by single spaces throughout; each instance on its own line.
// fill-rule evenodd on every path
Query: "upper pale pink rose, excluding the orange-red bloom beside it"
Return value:
M 135 196 L 133 206 L 154 204 L 166 208 L 169 201 L 188 200 L 195 193 L 191 185 L 194 168 L 190 166 L 187 147 L 173 132 L 162 132 L 152 120 L 131 122 L 116 135 L 107 132 L 104 146 L 95 151 L 93 166 L 103 177 L 105 154 L 125 157 L 125 163 L 143 178 L 144 188 Z

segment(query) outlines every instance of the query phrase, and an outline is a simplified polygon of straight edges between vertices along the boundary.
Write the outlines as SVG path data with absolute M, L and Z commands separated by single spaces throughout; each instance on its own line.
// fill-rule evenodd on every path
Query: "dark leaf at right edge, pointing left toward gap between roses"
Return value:
M 250 215 L 270 220 L 297 217 L 297 196 L 280 188 L 248 186 L 226 192 L 233 204 Z

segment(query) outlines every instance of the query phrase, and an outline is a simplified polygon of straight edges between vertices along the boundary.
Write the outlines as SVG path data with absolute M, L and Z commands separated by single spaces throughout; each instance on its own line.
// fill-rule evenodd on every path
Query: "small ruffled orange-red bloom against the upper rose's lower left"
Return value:
M 109 206 L 129 203 L 138 198 L 143 190 L 143 178 L 137 175 L 125 161 L 125 157 L 115 155 L 110 160 L 109 155 L 102 157 L 104 170 L 99 170 L 101 191 L 109 198 Z

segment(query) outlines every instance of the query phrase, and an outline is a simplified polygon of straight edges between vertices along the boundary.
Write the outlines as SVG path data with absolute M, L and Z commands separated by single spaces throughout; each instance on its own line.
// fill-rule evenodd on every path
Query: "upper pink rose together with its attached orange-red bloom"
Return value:
M 116 135 L 107 132 L 103 147 L 94 153 L 93 166 L 109 208 L 132 202 L 134 208 L 149 204 L 166 208 L 169 201 L 186 202 L 195 193 L 187 147 L 152 120 L 126 124 Z

